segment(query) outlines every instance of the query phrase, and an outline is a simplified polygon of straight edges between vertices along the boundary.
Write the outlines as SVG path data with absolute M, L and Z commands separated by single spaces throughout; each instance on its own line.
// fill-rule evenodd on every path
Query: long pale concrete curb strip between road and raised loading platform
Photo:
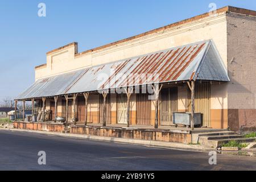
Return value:
M 129 144 L 138 144 L 147 147 L 160 147 L 160 148 L 172 148 L 176 150 L 188 150 L 188 151 L 212 151 L 211 148 L 205 148 L 201 144 L 184 144 L 184 143 L 175 143 L 175 142 L 161 142 L 154 140 L 139 140 L 139 139 L 127 139 L 127 138 L 113 138 L 113 137 L 98 137 L 93 135 L 80 135 L 80 134 L 65 134 L 57 132 L 48 132 L 48 131 L 35 131 L 35 130 L 20 130 L 20 129 L 0 129 L 5 131 L 20 131 L 28 133 L 38 133 L 46 135 L 55 135 L 60 137 L 71 137 L 79 139 L 88 139 L 88 140 L 100 140 L 106 142 L 114 143 L 129 143 Z

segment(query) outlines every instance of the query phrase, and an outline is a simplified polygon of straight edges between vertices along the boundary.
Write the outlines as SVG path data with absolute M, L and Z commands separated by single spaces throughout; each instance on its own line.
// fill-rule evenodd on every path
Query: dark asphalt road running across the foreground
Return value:
M 38 152 L 46 152 L 46 165 Z M 255 158 L 0 130 L 0 170 L 256 170 Z

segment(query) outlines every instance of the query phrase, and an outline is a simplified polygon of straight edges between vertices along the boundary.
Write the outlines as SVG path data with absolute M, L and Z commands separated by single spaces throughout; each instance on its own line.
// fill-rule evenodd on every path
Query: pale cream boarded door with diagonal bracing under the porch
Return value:
M 127 124 L 127 96 L 117 94 L 117 123 Z

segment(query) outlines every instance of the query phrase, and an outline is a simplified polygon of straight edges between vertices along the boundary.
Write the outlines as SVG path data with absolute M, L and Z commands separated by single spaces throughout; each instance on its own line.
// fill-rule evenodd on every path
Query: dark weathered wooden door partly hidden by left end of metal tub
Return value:
M 172 115 L 177 111 L 177 87 L 163 89 L 160 94 L 161 125 L 172 125 Z

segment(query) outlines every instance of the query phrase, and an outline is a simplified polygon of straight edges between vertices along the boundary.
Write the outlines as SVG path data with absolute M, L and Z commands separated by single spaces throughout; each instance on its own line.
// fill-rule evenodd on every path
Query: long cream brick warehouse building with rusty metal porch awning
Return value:
M 77 50 L 71 43 L 48 52 L 16 97 L 32 101 L 35 120 L 171 129 L 188 115 L 192 130 L 199 120 L 208 129 L 256 127 L 256 11 L 223 7 Z

